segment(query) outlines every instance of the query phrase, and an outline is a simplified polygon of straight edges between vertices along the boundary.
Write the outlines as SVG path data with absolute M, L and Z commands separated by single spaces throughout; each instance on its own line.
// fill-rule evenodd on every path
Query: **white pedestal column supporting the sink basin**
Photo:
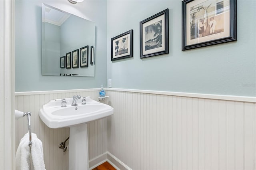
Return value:
M 69 170 L 89 169 L 87 124 L 70 127 L 68 157 Z

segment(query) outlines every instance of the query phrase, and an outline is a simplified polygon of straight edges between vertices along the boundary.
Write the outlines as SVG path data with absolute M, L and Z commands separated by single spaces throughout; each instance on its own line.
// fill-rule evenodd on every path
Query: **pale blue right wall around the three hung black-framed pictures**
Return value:
M 140 59 L 140 21 L 169 8 L 170 53 Z M 110 0 L 108 79 L 112 87 L 256 96 L 256 1 L 237 2 L 237 42 L 181 50 L 181 0 Z M 134 57 L 111 61 L 110 40 L 134 30 Z

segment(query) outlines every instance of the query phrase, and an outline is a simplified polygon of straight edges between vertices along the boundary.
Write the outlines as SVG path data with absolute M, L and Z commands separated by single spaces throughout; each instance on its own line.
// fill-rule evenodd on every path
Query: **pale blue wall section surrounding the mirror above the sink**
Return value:
M 95 77 L 42 76 L 42 2 L 95 22 Z M 106 1 L 15 1 L 15 91 L 87 89 L 106 84 Z

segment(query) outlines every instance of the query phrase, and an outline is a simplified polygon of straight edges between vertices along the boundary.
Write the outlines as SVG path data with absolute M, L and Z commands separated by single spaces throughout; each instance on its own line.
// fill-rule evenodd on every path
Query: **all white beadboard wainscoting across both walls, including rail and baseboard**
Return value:
M 68 150 L 58 144 L 69 128 L 48 128 L 40 107 L 99 89 L 16 93 L 15 109 L 32 112 L 32 132 L 43 142 L 47 170 L 67 170 Z M 89 167 L 108 160 L 133 170 L 256 170 L 256 98 L 107 89 L 111 117 L 89 123 Z M 16 121 L 16 148 L 27 132 Z

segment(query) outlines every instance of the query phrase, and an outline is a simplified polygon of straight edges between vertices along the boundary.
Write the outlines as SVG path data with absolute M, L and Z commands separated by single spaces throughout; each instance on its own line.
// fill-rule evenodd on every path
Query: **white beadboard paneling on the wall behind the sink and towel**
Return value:
M 27 94 L 27 95 L 26 95 Z M 32 94 L 32 95 L 30 95 Z M 98 101 L 98 89 L 81 91 L 78 90 L 68 93 L 49 91 L 48 93 L 23 93 L 15 97 L 15 109 L 20 111 L 32 112 L 31 124 L 32 132 L 36 133 L 42 140 L 44 149 L 44 163 L 47 170 L 68 170 L 68 150 L 58 148 L 60 142 L 69 136 L 69 128 L 53 129 L 48 128 L 40 119 L 39 109 L 45 103 L 53 99 L 62 99 L 72 97 L 73 95 L 90 96 Z M 20 118 L 16 121 L 16 149 L 20 139 L 28 132 L 27 120 Z M 66 143 L 68 144 L 68 142 Z M 89 160 L 95 158 L 107 151 L 107 118 L 88 124 L 88 152 Z

